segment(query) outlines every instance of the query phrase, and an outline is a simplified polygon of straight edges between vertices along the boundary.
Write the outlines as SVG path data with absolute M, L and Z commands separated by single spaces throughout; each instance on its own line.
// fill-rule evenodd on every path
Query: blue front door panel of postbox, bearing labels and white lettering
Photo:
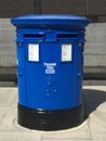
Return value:
M 64 48 L 54 42 L 26 43 L 27 106 L 56 110 L 74 105 L 74 62 L 71 54 L 69 61 L 62 57 Z

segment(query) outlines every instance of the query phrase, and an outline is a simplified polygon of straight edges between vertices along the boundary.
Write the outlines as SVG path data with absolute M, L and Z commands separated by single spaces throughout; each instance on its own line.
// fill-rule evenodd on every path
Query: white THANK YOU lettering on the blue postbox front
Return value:
M 45 66 L 45 74 L 55 74 L 55 68 L 56 63 L 43 63 Z

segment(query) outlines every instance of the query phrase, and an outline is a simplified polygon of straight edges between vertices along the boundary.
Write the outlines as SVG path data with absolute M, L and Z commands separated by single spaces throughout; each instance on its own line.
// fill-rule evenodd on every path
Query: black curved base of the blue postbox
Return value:
M 32 110 L 18 104 L 17 123 L 29 129 L 62 130 L 76 127 L 83 121 L 82 105 L 68 110 Z

